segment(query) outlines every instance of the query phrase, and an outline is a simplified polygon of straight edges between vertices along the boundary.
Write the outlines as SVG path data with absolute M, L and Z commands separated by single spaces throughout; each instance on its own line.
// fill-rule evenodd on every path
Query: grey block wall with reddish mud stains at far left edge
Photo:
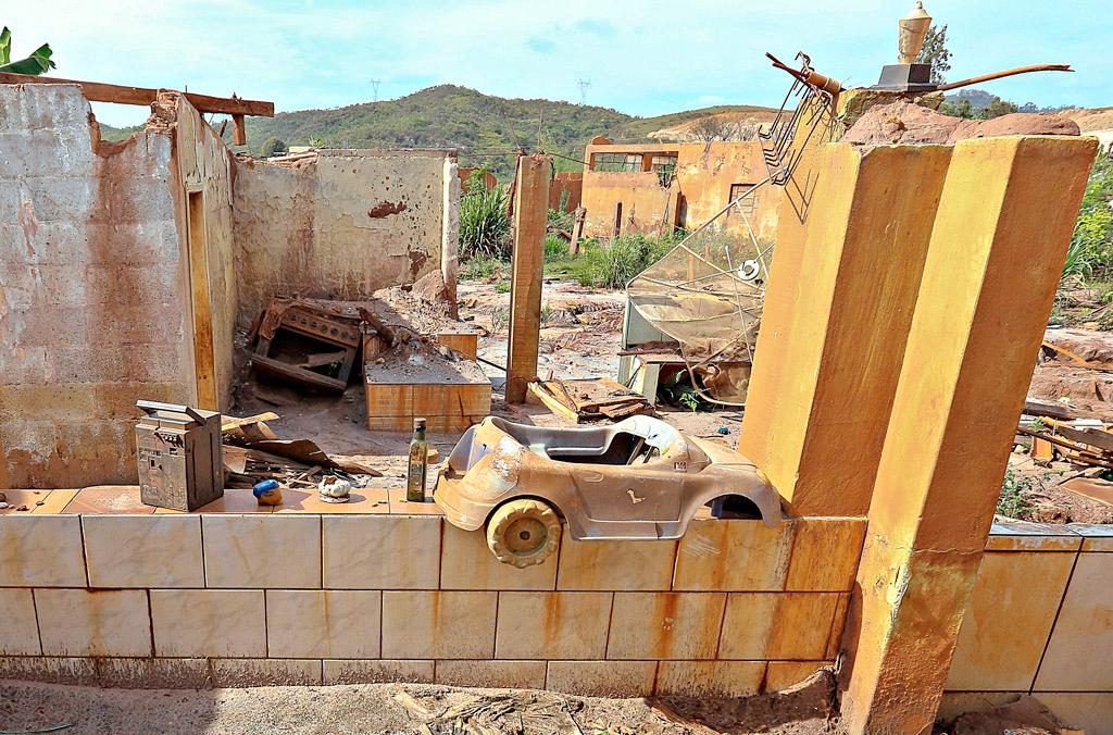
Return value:
M 169 134 L 0 85 L 0 488 L 134 481 L 137 399 L 193 402 Z

